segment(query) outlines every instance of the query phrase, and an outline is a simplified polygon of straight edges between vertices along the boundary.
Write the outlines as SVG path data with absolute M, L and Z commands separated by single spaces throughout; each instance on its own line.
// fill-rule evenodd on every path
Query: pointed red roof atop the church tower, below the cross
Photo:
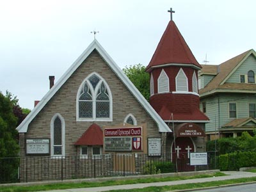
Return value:
M 201 68 L 173 20 L 168 23 L 146 71 L 166 65 L 188 65 Z

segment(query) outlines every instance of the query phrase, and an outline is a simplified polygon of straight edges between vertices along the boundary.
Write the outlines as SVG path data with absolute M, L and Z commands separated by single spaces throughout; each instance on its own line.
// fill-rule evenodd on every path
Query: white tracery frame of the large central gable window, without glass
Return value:
M 97 84 L 97 86 L 95 87 L 95 89 L 93 89 L 92 84 L 89 81 L 89 78 L 93 75 L 96 75 L 100 79 L 100 81 Z M 79 97 L 80 97 L 81 90 L 83 89 L 83 86 L 84 86 L 85 83 L 88 84 L 88 88 L 90 88 L 90 90 L 92 92 L 92 113 L 93 113 L 92 118 L 81 118 L 81 117 L 79 117 Z M 109 117 L 108 118 L 102 118 L 102 117 L 97 118 L 96 117 L 97 92 L 100 88 L 101 83 L 104 83 L 104 86 L 105 86 L 106 90 L 108 91 L 108 96 L 109 96 Z M 111 121 L 113 121 L 113 97 L 112 97 L 112 93 L 111 93 L 111 90 L 108 86 L 108 83 L 97 72 L 93 72 L 92 74 L 87 76 L 84 79 L 84 81 L 81 83 L 81 85 L 79 86 L 79 89 L 77 91 L 77 97 L 76 97 L 76 120 L 78 122 L 92 122 L 92 121 L 93 122 L 111 122 Z

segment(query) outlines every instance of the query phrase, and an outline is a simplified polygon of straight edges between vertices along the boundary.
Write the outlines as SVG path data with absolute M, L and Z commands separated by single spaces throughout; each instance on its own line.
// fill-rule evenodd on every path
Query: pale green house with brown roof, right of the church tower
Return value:
M 208 140 L 256 129 L 256 52 L 251 49 L 198 72 L 200 109 L 210 118 Z

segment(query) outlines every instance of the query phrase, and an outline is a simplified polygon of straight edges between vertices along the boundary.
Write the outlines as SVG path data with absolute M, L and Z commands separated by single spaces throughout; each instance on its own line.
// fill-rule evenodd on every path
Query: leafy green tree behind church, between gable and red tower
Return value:
M 145 99 L 150 97 L 149 74 L 145 72 L 146 67 L 140 63 L 137 65 L 125 66 L 123 69 L 125 75 L 132 81 L 136 88 L 141 92 Z

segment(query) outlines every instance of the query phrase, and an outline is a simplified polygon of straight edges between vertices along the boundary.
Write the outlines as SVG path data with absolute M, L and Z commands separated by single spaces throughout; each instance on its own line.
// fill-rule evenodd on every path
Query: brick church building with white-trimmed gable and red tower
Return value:
M 20 156 L 105 159 L 109 154 L 164 154 L 173 161 L 189 159 L 189 152 L 204 152 L 209 118 L 199 109 L 200 68 L 171 19 L 146 69 L 148 103 L 93 40 L 56 84 L 50 76 L 49 92 L 17 127 Z M 28 163 L 22 166 L 21 175 Z

